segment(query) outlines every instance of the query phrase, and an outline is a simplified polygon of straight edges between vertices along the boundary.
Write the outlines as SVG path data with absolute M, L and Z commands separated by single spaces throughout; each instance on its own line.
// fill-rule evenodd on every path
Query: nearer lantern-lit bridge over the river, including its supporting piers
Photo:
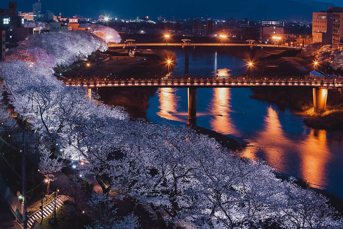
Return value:
M 188 88 L 188 118 L 197 116 L 197 88 L 255 88 L 255 87 L 300 87 L 313 88 L 314 111 L 325 111 L 328 89 L 342 89 L 343 79 L 309 77 L 256 77 L 245 79 L 241 76 L 141 76 L 128 79 L 116 77 L 70 77 L 59 78 L 70 86 L 88 88 L 101 87 L 156 87 Z M 91 93 L 89 93 L 90 95 Z M 194 123 L 194 122 L 193 122 Z

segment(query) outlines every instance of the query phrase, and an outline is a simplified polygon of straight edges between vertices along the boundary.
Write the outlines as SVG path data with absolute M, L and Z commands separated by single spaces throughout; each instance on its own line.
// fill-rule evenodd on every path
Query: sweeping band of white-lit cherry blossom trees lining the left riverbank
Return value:
M 323 58 L 330 53 L 327 48 L 322 48 Z M 39 168 L 47 177 L 65 161 L 78 160 L 70 180 L 75 195 L 86 174 L 102 188 L 90 200 L 93 209 L 99 204 L 112 209 L 113 190 L 126 196 L 133 210 L 142 206 L 166 228 L 342 228 L 326 198 L 292 179 L 277 179 L 265 162 L 229 152 L 188 126 L 132 121 L 121 107 L 106 106 L 95 95 L 89 99 L 84 88 L 58 81 L 54 64 L 39 61 L 46 54 L 68 65 L 98 49 L 105 49 L 104 41 L 94 34 L 50 32 L 29 36 L 14 50 L 22 57 L 10 54 L 0 63 L 0 94 L 29 123 L 33 134 L 27 139 L 39 151 Z M 114 214 L 101 212 L 88 228 L 139 227 L 133 214 L 122 219 Z

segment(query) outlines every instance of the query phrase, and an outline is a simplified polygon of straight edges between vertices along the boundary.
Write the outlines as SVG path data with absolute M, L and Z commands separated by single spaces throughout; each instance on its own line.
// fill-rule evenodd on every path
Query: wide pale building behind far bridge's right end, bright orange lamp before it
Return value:
M 284 42 L 284 38 L 284 27 L 260 27 L 260 43 L 280 44 Z

